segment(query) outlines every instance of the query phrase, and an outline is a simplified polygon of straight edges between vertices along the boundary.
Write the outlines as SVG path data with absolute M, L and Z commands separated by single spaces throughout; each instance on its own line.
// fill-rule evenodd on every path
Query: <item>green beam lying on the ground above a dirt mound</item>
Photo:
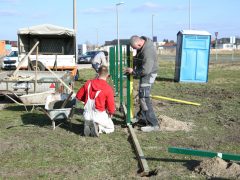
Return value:
M 169 147 L 168 152 L 176 153 L 176 154 L 201 156 L 201 157 L 210 157 L 210 158 L 220 157 L 224 160 L 240 161 L 239 154 L 227 154 L 227 153 L 211 152 L 211 151 L 205 151 L 205 150 L 195 150 L 195 149 L 190 149 L 190 148 L 178 148 L 178 147 Z

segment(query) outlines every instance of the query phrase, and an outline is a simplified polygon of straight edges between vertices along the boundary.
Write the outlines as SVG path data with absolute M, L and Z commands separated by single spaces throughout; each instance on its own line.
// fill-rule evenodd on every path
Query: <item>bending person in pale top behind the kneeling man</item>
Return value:
M 107 51 L 100 51 L 99 53 L 94 56 L 92 60 L 92 67 L 93 69 L 98 72 L 100 66 L 107 66 L 108 67 L 108 52 Z

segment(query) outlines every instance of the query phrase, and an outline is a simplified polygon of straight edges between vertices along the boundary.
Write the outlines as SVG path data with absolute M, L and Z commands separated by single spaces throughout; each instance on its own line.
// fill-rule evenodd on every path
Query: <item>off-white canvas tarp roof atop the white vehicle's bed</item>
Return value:
M 21 28 L 18 30 L 18 35 L 67 35 L 74 36 L 74 30 L 51 24 L 43 24 L 38 26 L 32 26 L 28 28 Z

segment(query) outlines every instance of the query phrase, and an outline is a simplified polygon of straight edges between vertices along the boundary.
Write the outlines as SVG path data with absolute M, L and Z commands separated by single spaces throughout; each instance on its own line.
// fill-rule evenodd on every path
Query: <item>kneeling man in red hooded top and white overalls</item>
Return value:
M 93 118 L 92 122 L 86 122 L 85 120 L 84 134 L 86 136 L 99 136 L 99 133 L 114 132 L 114 124 L 111 119 L 115 112 L 114 91 L 107 83 L 108 77 L 108 68 L 103 65 L 99 68 L 98 77 L 88 80 L 76 94 L 76 99 L 82 101 L 85 105 L 88 98 L 90 100 L 95 99 L 96 117 Z M 94 123 L 94 126 L 91 126 L 91 123 Z

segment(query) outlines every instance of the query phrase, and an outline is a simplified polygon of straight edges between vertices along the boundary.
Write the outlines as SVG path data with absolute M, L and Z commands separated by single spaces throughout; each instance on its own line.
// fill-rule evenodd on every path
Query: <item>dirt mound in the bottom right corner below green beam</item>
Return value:
M 210 178 L 240 179 L 240 165 L 226 162 L 219 157 L 202 161 L 194 171 Z

